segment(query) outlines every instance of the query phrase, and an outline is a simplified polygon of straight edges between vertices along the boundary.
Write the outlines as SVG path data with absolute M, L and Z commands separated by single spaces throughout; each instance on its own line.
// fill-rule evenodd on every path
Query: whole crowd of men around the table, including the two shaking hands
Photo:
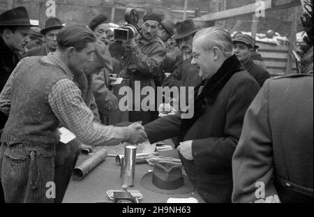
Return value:
M 39 29 L 17 7 L 0 15 L 0 36 L 2 202 L 61 202 L 82 143 L 168 138 L 206 202 L 313 202 L 313 59 L 301 74 L 270 78 L 251 36 L 156 13 L 120 42 L 105 15 L 66 26 L 50 17 Z M 158 117 L 156 101 L 135 110 L 147 93 L 122 118 L 110 74 L 133 93 L 186 87 L 193 117 Z M 61 144 L 62 126 L 77 140 Z M 48 181 L 56 199 L 45 197 Z

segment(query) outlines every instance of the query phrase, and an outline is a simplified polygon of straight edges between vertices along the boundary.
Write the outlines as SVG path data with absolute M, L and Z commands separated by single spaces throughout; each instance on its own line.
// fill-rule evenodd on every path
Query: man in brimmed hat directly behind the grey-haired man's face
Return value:
M 198 75 L 200 68 L 197 65 L 191 64 L 193 59 L 193 36 L 197 30 L 193 20 L 190 19 L 177 22 L 175 29 L 176 33 L 174 33 L 172 38 L 179 40 L 179 47 L 183 58 L 178 68 L 165 78 L 163 87 L 186 87 L 186 96 L 188 97 L 191 94 L 188 93 L 188 87 L 196 87 L 202 81 L 202 77 Z

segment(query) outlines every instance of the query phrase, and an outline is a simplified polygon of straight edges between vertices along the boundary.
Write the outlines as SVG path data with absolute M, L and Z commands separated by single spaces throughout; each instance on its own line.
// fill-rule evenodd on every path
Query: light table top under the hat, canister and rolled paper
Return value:
M 172 156 L 179 158 L 177 151 L 160 151 L 162 156 Z M 86 159 L 88 156 L 83 156 L 78 159 Z M 200 195 L 194 190 L 190 193 L 180 195 L 166 195 L 154 193 L 153 191 L 142 188 L 140 180 L 146 174 L 147 170 L 152 170 L 153 167 L 147 163 L 135 165 L 135 179 L 133 188 L 130 190 L 140 190 L 143 199 L 140 202 L 144 203 L 165 203 L 170 197 L 187 198 L 195 197 L 199 202 L 204 202 Z M 94 202 L 112 202 L 107 197 L 107 190 L 122 190 L 122 178 L 120 178 L 120 166 L 115 162 L 114 157 L 107 157 L 103 163 L 100 163 L 94 170 L 89 172 L 82 180 L 70 179 L 66 194 L 63 197 L 63 203 L 94 203 Z

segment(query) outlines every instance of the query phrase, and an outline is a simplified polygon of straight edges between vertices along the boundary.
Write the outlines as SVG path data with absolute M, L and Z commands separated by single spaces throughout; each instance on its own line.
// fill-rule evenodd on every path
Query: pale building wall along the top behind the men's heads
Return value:
M 40 20 L 43 24 L 45 17 L 45 0 L 0 0 L 0 13 L 1 11 L 8 10 L 12 6 L 26 6 L 29 11 L 31 19 Z M 100 13 L 106 14 L 109 19 L 111 17 L 111 7 L 108 6 L 113 1 L 101 0 L 56 0 L 57 3 L 57 17 L 62 22 L 82 22 L 88 24 L 89 21 Z M 120 0 L 114 1 L 117 6 L 141 6 L 147 10 L 161 13 L 165 18 L 174 22 L 182 20 L 183 13 L 173 13 L 171 10 L 183 10 L 184 0 Z M 236 8 L 254 3 L 255 0 L 225 0 L 225 8 Z M 40 8 L 40 3 L 42 7 Z M 222 10 L 223 0 L 189 0 L 188 10 L 207 10 L 209 13 L 214 13 Z M 292 22 L 293 8 L 283 10 L 267 11 L 265 17 L 260 17 L 258 24 L 258 33 L 265 33 L 269 29 L 277 31 L 282 36 L 290 36 L 291 22 Z M 301 17 L 303 11 L 301 6 L 298 9 L 298 17 Z M 141 12 L 141 17 L 144 12 Z M 188 13 L 187 17 L 193 17 L 193 13 Z M 217 25 L 225 27 L 230 31 L 251 31 L 252 15 L 244 15 L 233 19 L 216 22 Z M 124 9 L 116 9 L 114 13 L 114 22 L 124 22 Z M 302 30 L 301 20 L 298 20 L 298 31 Z

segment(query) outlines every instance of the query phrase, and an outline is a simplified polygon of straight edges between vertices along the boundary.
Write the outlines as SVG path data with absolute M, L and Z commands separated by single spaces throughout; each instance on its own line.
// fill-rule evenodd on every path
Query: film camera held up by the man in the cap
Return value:
M 114 29 L 114 40 L 130 40 L 140 32 L 137 27 L 139 15 L 133 8 L 127 8 L 124 13 L 124 23 L 121 27 Z

